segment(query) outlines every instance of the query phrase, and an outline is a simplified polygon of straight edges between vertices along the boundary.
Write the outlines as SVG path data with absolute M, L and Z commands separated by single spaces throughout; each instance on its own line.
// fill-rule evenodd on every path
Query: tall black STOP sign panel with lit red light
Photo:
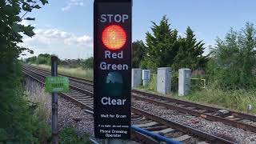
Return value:
M 94 1 L 94 134 L 130 138 L 130 0 Z

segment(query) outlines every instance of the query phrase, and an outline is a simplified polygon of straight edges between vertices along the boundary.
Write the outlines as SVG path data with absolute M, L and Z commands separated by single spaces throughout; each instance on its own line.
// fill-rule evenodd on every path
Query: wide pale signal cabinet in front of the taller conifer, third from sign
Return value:
M 158 86 L 157 90 L 159 93 L 168 94 L 170 93 L 171 85 L 171 70 L 170 67 L 158 68 Z

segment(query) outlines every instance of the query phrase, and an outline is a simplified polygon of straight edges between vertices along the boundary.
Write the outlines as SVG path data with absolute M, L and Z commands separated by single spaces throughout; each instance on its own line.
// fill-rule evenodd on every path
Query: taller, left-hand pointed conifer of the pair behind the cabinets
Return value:
M 146 48 L 142 67 L 171 66 L 178 52 L 177 30 L 171 30 L 166 16 L 159 25 L 152 22 L 153 34 L 146 33 Z

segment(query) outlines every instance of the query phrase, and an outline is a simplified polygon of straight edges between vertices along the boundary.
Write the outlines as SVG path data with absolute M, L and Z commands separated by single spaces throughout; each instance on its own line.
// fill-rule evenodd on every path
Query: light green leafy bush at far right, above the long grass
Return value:
M 208 71 L 222 89 L 241 89 L 255 87 L 255 46 L 256 30 L 253 24 L 246 23 L 242 30 L 230 30 L 223 40 L 217 39 L 212 50 L 212 60 Z

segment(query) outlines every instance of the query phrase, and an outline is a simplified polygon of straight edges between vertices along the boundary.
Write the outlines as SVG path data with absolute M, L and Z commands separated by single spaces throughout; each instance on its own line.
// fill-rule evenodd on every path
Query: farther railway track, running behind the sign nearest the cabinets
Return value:
M 41 70 L 30 66 L 30 69 Z M 43 73 L 50 74 L 49 71 L 41 70 Z M 93 86 L 92 81 L 82 78 L 70 77 L 70 81 L 78 82 L 78 87 Z M 92 88 L 90 89 L 92 90 Z M 166 98 L 158 94 L 146 93 L 142 90 L 132 90 L 132 98 L 137 100 L 154 103 L 158 106 L 165 106 L 167 109 L 178 110 L 181 113 L 191 114 L 197 117 L 205 118 L 214 122 L 222 122 L 223 124 L 234 126 L 243 130 L 256 132 L 256 116 L 250 114 L 239 113 L 233 110 L 223 110 L 213 106 L 205 106 L 194 102 L 186 102 L 175 98 Z

